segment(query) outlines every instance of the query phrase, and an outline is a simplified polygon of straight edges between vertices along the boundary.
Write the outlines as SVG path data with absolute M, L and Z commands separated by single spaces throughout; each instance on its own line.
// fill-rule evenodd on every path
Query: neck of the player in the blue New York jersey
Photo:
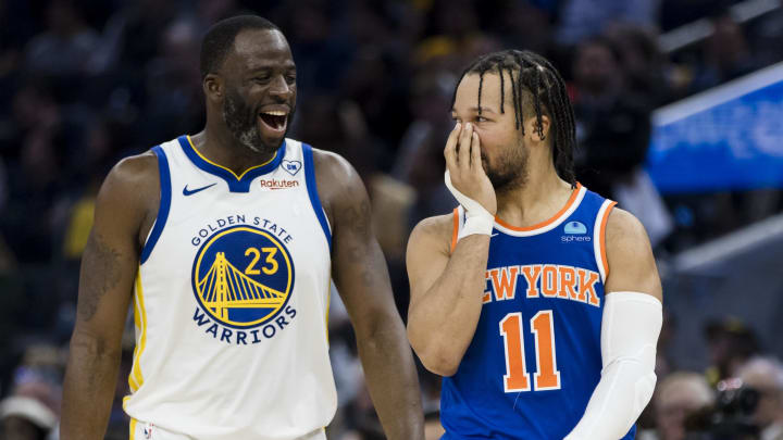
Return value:
M 531 154 L 526 166 L 527 180 L 522 187 L 497 192 L 497 216 L 517 227 L 530 227 L 552 218 L 573 192 L 571 184 L 555 171 L 551 154 Z

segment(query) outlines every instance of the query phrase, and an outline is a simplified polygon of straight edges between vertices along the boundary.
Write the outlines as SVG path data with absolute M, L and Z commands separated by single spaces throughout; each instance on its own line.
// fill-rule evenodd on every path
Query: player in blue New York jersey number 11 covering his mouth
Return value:
M 475 61 L 445 149 L 452 215 L 413 230 L 408 336 L 445 439 L 631 439 L 661 286 L 639 222 L 574 179 L 573 113 L 532 52 Z

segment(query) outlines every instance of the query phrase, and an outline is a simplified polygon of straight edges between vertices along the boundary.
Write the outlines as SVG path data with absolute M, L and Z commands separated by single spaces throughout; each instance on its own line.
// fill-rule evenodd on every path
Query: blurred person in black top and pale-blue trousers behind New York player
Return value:
M 655 248 L 672 229 L 671 217 L 642 164 L 650 138 L 651 106 L 626 87 L 621 55 L 606 37 L 576 48 L 574 60 L 576 177 L 617 200 L 644 224 Z

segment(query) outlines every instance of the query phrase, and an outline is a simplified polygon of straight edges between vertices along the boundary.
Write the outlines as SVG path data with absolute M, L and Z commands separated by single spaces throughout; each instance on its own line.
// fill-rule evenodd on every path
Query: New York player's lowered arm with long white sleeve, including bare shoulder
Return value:
M 607 221 L 609 274 L 601 318 L 601 378 L 566 440 L 613 440 L 627 432 L 655 389 L 661 285 L 642 224 L 622 210 Z

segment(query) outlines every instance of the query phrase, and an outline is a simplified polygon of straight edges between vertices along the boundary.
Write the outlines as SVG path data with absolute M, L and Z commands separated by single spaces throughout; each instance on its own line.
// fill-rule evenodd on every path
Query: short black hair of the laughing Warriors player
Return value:
M 245 29 L 279 32 L 274 23 L 258 15 L 237 15 L 215 23 L 207 30 L 201 41 L 201 79 L 223 65 L 226 55 L 234 47 L 236 36 Z

